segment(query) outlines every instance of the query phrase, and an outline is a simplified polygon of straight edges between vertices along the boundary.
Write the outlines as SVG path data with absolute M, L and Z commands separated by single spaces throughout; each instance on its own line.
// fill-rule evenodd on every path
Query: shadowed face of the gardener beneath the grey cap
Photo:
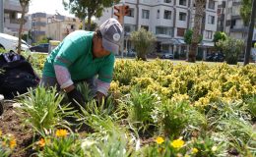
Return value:
M 103 48 L 101 38 L 94 36 L 93 41 L 94 41 L 93 53 L 96 58 L 104 57 L 110 54 L 109 51 Z

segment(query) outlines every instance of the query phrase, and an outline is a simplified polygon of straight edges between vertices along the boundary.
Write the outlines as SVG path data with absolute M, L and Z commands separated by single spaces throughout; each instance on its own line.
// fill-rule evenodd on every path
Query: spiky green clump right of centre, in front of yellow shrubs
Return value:
M 163 132 L 174 137 L 181 133 L 190 134 L 188 126 L 194 129 L 201 126 L 203 129 L 206 124 L 205 118 L 186 101 L 163 101 L 155 114 L 155 121 Z

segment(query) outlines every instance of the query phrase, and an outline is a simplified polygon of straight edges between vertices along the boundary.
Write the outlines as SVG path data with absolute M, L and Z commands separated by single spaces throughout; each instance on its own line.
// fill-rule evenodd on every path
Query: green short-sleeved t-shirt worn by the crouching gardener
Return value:
M 113 74 L 114 55 L 93 58 L 94 31 L 76 30 L 64 40 L 47 57 L 43 68 L 43 76 L 54 77 L 54 65 L 66 67 L 72 80 L 93 78 L 110 82 Z

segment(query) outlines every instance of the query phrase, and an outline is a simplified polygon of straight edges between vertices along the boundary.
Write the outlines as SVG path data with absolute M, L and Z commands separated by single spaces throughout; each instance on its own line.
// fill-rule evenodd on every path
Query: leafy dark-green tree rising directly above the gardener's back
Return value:
M 75 14 L 75 16 L 82 21 L 88 17 L 87 27 L 91 30 L 92 17 L 101 17 L 104 8 L 111 7 L 114 3 L 119 3 L 119 1 L 120 0 L 69 0 L 69 3 L 67 3 L 63 0 L 62 2 L 65 9 L 69 9 L 72 14 Z

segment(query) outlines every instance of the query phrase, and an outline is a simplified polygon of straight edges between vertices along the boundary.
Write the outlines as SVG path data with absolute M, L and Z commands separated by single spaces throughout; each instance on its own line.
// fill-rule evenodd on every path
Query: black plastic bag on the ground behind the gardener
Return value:
M 18 93 L 23 94 L 29 87 L 35 87 L 39 78 L 34 73 L 32 65 L 24 56 L 14 52 L 0 55 L 0 94 L 12 99 Z

